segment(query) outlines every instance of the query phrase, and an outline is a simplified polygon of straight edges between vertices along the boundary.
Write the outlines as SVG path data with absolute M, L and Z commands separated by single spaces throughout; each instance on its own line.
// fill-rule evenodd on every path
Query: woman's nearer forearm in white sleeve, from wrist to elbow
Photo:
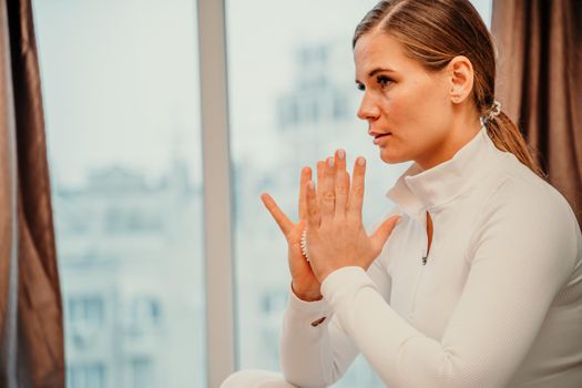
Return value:
M 388 386 L 482 386 L 482 381 L 472 379 L 480 375 L 469 374 L 470 379 L 463 379 L 467 359 L 455 359 L 451 349 L 409 325 L 358 268 L 346 267 L 331 274 L 324 282 L 323 293 L 346 333 Z M 500 387 L 492 380 L 484 386 Z

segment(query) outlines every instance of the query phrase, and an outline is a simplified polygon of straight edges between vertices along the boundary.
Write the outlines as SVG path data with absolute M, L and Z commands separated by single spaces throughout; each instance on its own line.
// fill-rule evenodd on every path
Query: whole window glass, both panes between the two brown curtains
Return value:
M 71 388 L 206 386 L 195 3 L 33 0 Z M 349 43 L 375 3 L 225 2 L 232 155 L 216 157 L 234 172 L 239 368 L 279 368 L 288 296 L 259 193 L 295 217 L 303 165 L 337 147 L 377 161 Z M 491 0 L 474 3 L 489 20 Z M 368 164 L 368 225 L 407 166 Z M 380 386 L 361 357 L 336 385 L 354 386 Z

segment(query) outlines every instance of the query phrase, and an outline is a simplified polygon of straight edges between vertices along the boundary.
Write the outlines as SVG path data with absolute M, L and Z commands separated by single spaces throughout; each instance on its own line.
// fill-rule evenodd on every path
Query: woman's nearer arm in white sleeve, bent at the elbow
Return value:
M 323 295 L 390 387 L 503 387 L 573 269 L 578 226 L 568 205 L 554 200 L 515 193 L 490 204 L 467 253 L 471 269 L 441 340 L 396 314 L 360 267 L 331 273 Z

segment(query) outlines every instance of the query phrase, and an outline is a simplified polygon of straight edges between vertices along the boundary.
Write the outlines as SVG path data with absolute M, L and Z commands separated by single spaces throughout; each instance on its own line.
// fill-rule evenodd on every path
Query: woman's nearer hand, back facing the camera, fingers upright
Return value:
M 335 157 L 327 159 L 323 178 L 317 182 L 319 201 L 314 182 L 306 183 L 307 249 L 320 283 L 341 267 L 368 269 L 400 218 L 399 215 L 389 217 L 368 236 L 361 222 L 365 174 L 366 160 L 360 156 L 354 165 L 350 183 L 346 154 L 338 150 Z

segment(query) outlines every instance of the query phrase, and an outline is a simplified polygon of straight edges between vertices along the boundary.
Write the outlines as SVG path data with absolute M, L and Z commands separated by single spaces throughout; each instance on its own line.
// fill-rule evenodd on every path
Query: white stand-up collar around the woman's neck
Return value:
M 452 159 L 423 171 L 413 163 L 396 182 L 387 196 L 404 212 L 426 222 L 426 211 L 450 202 L 479 182 L 500 153 L 481 126 L 477 135 L 464 144 Z M 483 169 L 484 167 L 484 169 Z

